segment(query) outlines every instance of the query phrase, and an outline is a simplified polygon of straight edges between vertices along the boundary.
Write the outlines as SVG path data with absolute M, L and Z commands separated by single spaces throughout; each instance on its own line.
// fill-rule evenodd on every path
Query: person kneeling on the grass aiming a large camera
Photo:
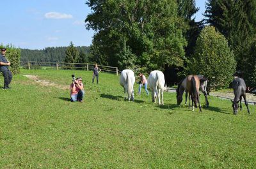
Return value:
M 83 102 L 84 97 L 84 84 L 81 77 L 75 78 L 70 85 L 70 99 L 71 101 Z

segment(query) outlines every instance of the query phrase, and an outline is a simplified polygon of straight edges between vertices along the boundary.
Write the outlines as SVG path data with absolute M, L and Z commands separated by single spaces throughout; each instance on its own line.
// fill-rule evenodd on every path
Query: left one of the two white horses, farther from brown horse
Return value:
M 120 85 L 124 87 L 124 98 L 126 99 L 126 92 L 128 93 L 128 100 L 134 101 L 133 85 L 135 82 L 134 73 L 132 70 L 123 70 L 120 76 Z

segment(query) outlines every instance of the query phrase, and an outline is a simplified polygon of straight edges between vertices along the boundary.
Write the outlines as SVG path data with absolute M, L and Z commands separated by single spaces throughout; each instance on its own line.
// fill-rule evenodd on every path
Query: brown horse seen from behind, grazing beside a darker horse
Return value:
M 180 105 L 182 101 L 182 96 L 184 91 L 186 91 L 186 98 L 187 93 L 189 93 L 189 106 L 190 106 L 190 98 L 192 99 L 192 107 L 194 110 L 194 103 L 195 107 L 197 108 L 197 103 L 199 105 L 200 112 L 202 112 L 202 108 L 200 105 L 199 99 L 199 87 L 200 87 L 200 80 L 196 75 L 189 75 L 188 77 L 184 78 L 179 84 L 177 89 L 177 105 Z

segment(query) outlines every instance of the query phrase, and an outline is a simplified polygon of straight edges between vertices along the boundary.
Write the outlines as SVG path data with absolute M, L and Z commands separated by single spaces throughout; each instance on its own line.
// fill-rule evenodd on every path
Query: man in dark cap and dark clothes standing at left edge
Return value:
M 12 81 L 12 72 L 9 70 L 11 62 L 9 62 L 5 57 L 6 48 L 0 48 L 0 70 L 4 76 L 4 87 L 3 89 L 10 89 L 9 84 Z

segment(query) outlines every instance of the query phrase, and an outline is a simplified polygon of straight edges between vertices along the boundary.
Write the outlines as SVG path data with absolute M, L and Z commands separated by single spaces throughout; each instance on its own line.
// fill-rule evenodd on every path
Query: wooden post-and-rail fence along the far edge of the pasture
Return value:
M 20 62 L 20 66 L 28 70 L 86 70 L 92 71 L 94 64 L 90 63 L 68 63 L 68 62 Z M 100 70 L 118 75 L 117 67 L 98 65 Z

